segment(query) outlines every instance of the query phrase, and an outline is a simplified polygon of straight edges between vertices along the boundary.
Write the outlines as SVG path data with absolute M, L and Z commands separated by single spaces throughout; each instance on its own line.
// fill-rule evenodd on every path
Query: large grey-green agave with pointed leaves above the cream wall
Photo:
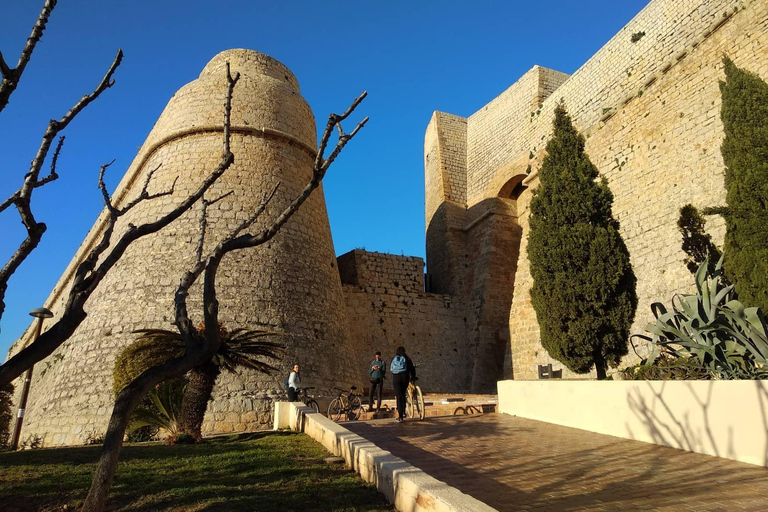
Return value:
M 709 258 L 696 271 L 696 293 L 672 297 L 672 311 L 655 302 L 656 322 L 648 324 L 652 352 L 646 364 L 662 353 L 694 358 L 713 378 L 768 378 L 768 324 L 759 308 L 744 307 L 733 285 L 720 279 L 723 258 L 707 272 Z

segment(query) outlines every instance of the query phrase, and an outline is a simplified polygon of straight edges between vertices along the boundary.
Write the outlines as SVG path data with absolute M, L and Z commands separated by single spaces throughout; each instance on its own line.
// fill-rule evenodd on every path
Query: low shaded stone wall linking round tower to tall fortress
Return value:
M 339 257 L 341 275 L 349 275 L 353 264 L 362 269 L 360 276 L 367 276 L 343 285 L 361 384 L 368 386 L 374 352 L 381 351 L 390 362 L 402 345 L 418 366 L 419 384 L 426 392 L 469 390 L 472 350 L 466 343 L 464 304 L 449 295 L 403 286 L 423 282 L 421 258 L 354 250 Z

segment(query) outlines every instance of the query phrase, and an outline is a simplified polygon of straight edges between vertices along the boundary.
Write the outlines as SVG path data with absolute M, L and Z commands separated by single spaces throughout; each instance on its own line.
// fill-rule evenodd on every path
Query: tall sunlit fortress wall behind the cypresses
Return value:
M 644 35 L 632 42 L 633 34 L 640 33 Z M 692 287 L 676 226 L 680 207 L 725 200 L 718 87 L 724 79 L 722 57 L 728 55 L 768 79 L 766 48 L 768 4 L 762 0 L 655 0 L 572 76 L 534 67 L 464 119 L 466 138 L 458 143 L 456 130 L 441 125 L 462 119 L 435 113 L 425 139 L 427 263 L 428 274 L 436 274 L 428 279 L 451 283 L 466 279 L 460 275 L 464 263 L 475 268 L 477 255 L 447 226 L 463 222 L 461 229 L 471 232 L 473 210 L 491 198 L 514 206 L 515 223 L 523 233 L 513 279 L 470 292 L 487 295 L 495 287 L 514 288 L 508 321 L 493 326 L 497 337 L 506 337 L 507 378 L 536 378 L 537 364 L 562 366 L 539 343 L 525 256 L 531 189 L 538 182 L 536 171 L 551 136 L 556 104 L 564 102 L 587 137 L 586 151 L 615 195 L 614 215 L 638 278 L 632 330 L 642 332 L 652 318 L 651 302 L 669 301 L 674 292 Z M 466 148 L 465 162 L 431 161 L 432 155 L 448 154 L 447 146 L 454 144 Z M 449 185 L 441 190 L 435 182 L 450 183 L 464 169 L 467 192 L 461 205 L 446 193 Z M 510 194 L 517 182 L 521 187 Z M 722 242 L 720 219 L 710 217 L 707 229 Z M 432 254 L 437 253 L 456 256 L 441 262 L 436 255 L 439 264 L 433 267 Z M 451 286 L 436 291 L 468 293 Z M 574 377 L 567 370 L 565 375 Z

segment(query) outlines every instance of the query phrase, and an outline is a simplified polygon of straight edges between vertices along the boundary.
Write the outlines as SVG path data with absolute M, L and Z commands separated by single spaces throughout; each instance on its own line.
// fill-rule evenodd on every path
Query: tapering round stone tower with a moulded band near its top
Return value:
M 208 209 L 206 250 L 247 218 L 264 192 L 279 183 L 252 232 L 274 219 L 310 179 L 317 147 L 315 120 L 296 78 L 266 55 L 228 50 L 171 98 L 114 201 L 119 207 L 136 197 L 153 169 L 149 191 L 169 189 L 176 180 L 173 195 L 140 203 L 121 219 L 122 229 L 169 211 L 215 168 L 223 148 L 227 62 L 233 74 L 241 74 L 232 100 L 235 163 L 206 197 L 232 193 Z M 72 271 L 103 229 L 102 216 L 47 301 L 54 313 L 62 307 Z M 45 445 L 72 444 L 91 432 L 103 432 L 112 409 L 115 357 L 136 339 L 136 329 L 174 329 L 174 292 L 183 272 L 193 265 L 199 233 L 196 205 L 129 248 L 91 297 L 88 317 L 75 335 L 36 367 L 23 439 L 39 435 Z M 354 382 L 322 188 L 270 243 L 228 255 L 217 283 L 223 326 L 281 332 L 286 354 L 277 362 L 280 371 L 268 377 L 249 370 L 223 373 L 204 432 L 252 430 L 271 421 L 271 403 L 284 396 L 283 379 L 294 361 L 302 365 L 303 383 L 316 386 L 320 395 Z M 195 321 L 202 320 L 200 304 L 198 283 L 189 301 Z

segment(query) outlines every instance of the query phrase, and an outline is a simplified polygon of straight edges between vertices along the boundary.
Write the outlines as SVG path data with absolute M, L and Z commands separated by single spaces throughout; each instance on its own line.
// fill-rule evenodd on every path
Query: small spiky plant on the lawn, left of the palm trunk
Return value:
M 151 406 L 143 405 L 133 411 L 128 433 L 151 427 L 164 433 L 166 439 L 176 439 L 180 433 L 179 414 L 186 385 L 183 379 L 172 379 L 153 388 L 146 397 Z

